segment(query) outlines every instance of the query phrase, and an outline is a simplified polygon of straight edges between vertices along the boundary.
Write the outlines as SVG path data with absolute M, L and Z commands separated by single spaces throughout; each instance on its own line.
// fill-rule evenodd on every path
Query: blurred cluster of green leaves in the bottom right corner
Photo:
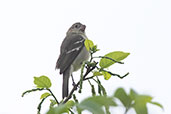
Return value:
M 126 112 L 128 112 L 129 109 L 134 108 L 136 114 L 148 114 L 147 103 L 151 103 L 153 105 L 159 106 L 160 108 L 163 108 L 161 104 L 153 102 L 151 96 L 140 95 L 133 89 L 131 89 L 130 93 L 127 94 L 123 88 L 118 88 L 114 94 L 114 97 L 121 101 L 126 109 Z

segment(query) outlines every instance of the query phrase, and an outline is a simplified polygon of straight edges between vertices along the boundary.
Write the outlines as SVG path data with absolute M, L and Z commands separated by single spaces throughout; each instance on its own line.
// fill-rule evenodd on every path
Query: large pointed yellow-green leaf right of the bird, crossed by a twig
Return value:
M 109 58 L 119 62 L 119 61 L 125 59 L 129 54 L 130 53 L 125 53 L 122 51 L 115 51 L 115 52 L 111 52 L 111 53 L 106 54 L 105 57 L 109 57 Z M 102 58 L 100 60 L 100 67 L 108 68 L 109 66 L 114 64 L 115 62 L 112 61 L 111 59 Z

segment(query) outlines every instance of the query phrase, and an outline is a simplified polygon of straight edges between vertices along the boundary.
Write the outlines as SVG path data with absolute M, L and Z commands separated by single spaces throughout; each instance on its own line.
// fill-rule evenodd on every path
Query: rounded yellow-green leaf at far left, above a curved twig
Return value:
M 50 88 L 51 81 L 47 76 L 34 77 L 34 84 L 37 88 Z

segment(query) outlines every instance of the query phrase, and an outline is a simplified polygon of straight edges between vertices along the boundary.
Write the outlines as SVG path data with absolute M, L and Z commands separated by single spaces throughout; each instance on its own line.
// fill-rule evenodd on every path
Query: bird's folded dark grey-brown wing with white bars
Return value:
M 60 74 L 73 63 L 84 47 L 84 41 L 85 39 L 78 34 L 72 34 L 64 39 L 61 45 L 60 56 L 56 62 L 56 68 L 60 69 Z

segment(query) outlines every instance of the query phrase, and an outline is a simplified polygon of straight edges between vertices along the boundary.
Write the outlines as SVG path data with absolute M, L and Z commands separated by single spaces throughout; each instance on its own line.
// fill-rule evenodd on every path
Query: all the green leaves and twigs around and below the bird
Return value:
M 163 106 L 160 103 L 152 101 L 151 96 L 138 94 L 133 89 L 131 89 L 129 94 L 127 94 L 123 88 L 118 88 L 113 96 L 108 96 L 106 88 L 103 86 L 99 76 L 103 75 L 105 80 L 112 79 L 112 76 L 116 76 L 120 79 L 126 77 L 129 73 L 120 76 L 119 74 L 109 71 L 107 68 L 114 65 L 114 63 L 123 64 L 121 61 L 130 53 L 114 51 L 106 54 L 105 56 L 95 57 L 94 53 L 99 51 L 99 49 L 97 49 L 97 45 L 94 45 L 94 43 L 88 39 L 85 40 L 84 45 L 90 52 L 90 60 L 83 62 L 80 80 L 73 85 L 73 89 L 70 91 L 68 97 L 61 99 L 59 102 L 50 88 L 52 85 L 50 79 L 44 75 L 34 77 L 36 88 L 27 90 L 22 94 L 23 97 L 27 93 L 47 91 L 40 96 L 41 101 L 37 107 L 37 114 L 40 114 L 43 102 L 49 97 L 51 97 L 51 99 L 49 99 L 50 106 L 47 114 L 81 114 L 85 110 L 93 114 L 110 114 L 110 108 L 118 106 L 115 103 L 115 99 L 118 99 L 123 104 L 123 107 L 125 107 L 125 114 L 131 108 L 136 111 L 136 114 L 148 114 L 147 103 L 156 105 L 163 109 Z M 96 59 L 100 59 L 100 63 L 99 61 L 96 61 Z M 93 75 L 88 76 L 90 73 L 93 73 Z M 81 93 L 84 81 L 89 82 L 92 94 L 90 97 L 79 102 L 79 99 L 74 92 L 79 87 L 78 91 Z

